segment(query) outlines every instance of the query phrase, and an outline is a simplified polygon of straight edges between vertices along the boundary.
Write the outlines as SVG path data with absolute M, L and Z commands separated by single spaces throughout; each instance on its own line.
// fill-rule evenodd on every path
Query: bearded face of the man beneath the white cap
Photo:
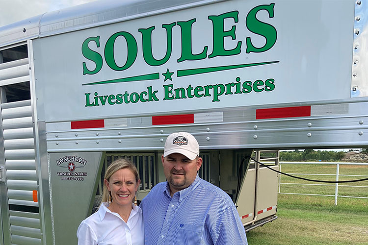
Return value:
M 187 188 L 193 183 L 197 171 L 201 168 L 202 158 L 190 160 L 180 153 L 161 156 L 163 173 L 169 182 L 172 194 Z

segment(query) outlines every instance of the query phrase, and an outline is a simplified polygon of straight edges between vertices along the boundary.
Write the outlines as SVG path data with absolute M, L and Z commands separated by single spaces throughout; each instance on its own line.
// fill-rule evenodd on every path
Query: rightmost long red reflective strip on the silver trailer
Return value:
M 257 109 L 256 119 L 310 117 L 311 106 Z

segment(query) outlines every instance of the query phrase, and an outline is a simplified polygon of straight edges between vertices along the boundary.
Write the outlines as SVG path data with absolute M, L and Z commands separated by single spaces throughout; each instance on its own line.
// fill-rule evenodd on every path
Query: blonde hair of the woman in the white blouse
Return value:
M 118 160 L 113 161 L 110 166 L 108 166 L 106 172 L 105 172 L 105 179 L 107 181 L 110 181 L 110 177 L 117 172 L 118 170 L 121 169 L 129 169 L 135 176 L 135 182 L 136 184 L 139 181 L 139 175 L 138 175 L 138 170 L 135 167 L 135 165 L 131 162 L 131 160 L 126 159 L 126 158 L 119 158 Z M 110 199 L 110 192 L 107 190 L 107 186 L 104 183 L 104 189 L 102 191 L 102 199 L 101 199 L 101 203 L 102 202 L 107 202 Z M 100 203 L 100 204 L 101 204 Z M 100 206 L 100 205 L 99 205 Z

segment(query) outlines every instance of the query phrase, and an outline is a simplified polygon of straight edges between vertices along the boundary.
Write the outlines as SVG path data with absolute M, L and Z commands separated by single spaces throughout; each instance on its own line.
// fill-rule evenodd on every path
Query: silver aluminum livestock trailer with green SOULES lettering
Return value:
M 1 27 L 0 245 L 76 244 L 106 166 L 131 158 L 144 197 L 165 180 L 174 131 L 197 138 L 200 176 L 233 197 L 244 225 L 274 219 L 277 175 L 239 172 L 244 156 L 368 145 L 367 10 L 104 0 Z

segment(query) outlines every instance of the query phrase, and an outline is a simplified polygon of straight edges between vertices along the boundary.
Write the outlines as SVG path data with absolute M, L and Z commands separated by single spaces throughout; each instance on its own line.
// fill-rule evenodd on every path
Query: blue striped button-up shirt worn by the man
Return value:
M 230 196 L 198 175 L 173 197 L 168 183 L 159 183 L 140 207 L 146 245 L 247 245 Z

